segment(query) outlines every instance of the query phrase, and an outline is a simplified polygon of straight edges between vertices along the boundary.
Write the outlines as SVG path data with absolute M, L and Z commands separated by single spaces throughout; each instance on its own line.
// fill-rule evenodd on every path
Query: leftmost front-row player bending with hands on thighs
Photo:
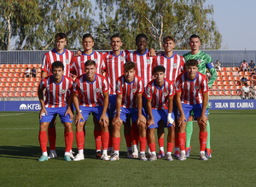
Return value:
M 61 117 L 61 122 L 65 126 L 65 143 L 66 150 L 64 155 L 65 161 L 72 161 L 70 151 L 73 145 L 73 112 L 70 109 L 71 99 L 67 100 L 71 94 L 73 80 L 63 76 L 64 65 L 61 61 L 55 61 L 52 64 L 52 76 L 44 77 L 38 87 L 38 98 L 41 104 L 39 142 L 43 155 L 38 161 L 48 161 L 47 154 L 47 133 L 46 130 L 49 122 L 57 114 Z M 44 101 L 45 90 L 45 101 Z

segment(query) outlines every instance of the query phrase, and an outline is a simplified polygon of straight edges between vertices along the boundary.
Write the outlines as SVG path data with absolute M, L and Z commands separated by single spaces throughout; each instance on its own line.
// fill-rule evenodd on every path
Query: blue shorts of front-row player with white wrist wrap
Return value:
M 152 109 L 152 115 L 154 117 L 154 125 L 150 125 L 148 128 L 158 128 L 158 122 L 162 119 L 164 122 L 165 122 L 165 127 L 171 127 L 172 124 L 169 123 L 167 125 L 167 116 L 168 116 L 168 110 L 155 110 L 155 109 Z M 172 111 L 172 119 L 174 120 L 174 113 Z

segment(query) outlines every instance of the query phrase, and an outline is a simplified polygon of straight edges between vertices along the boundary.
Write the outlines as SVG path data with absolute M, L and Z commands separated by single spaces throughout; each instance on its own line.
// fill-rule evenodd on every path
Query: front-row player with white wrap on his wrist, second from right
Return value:
M 155 137 L 154 128 L 158 128 L 161 119 L 168 127 L 166 160 L 173 161 L 172 149 L 175 139 L 174 114 L 172 112 L 172 101 L 175 94 L 174 83 L 165 78 L 166 68 L 162 65 L 154 67 L 154 80 L 148 83 L 146 88 L 146 99 L 148 109 L 148 146 L 151 150 L 149 161 L 155 161 Z M 173 124 L 173 125 L 172 125 Z

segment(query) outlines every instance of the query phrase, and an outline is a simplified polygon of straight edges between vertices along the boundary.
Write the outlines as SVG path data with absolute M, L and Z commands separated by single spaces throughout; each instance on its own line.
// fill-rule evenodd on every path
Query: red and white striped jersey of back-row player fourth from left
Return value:
M 153 57 L 149 57 L 148 49 L 145 54 L 138 54 L 137 51 L 129 52 L 125 50 L 126 60 L 136 64 L 136 75 L 143 79 L 144 86 L 152 80 Z

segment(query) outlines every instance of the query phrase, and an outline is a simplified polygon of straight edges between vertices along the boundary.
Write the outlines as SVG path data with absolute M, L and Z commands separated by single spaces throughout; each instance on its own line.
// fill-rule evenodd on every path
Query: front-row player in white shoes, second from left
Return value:
M 73 104 L 76 108 L 76 140 L 79 154 L 73 161 L 84 160 L 84 125 L 90 112 L 96 116 L 96 126 L 102 129 L 102 160 L 108 161 L 108 81 L 96 74 L 96 62 L 87 60 L 84 63 L 84 74 L 73 83 Z

